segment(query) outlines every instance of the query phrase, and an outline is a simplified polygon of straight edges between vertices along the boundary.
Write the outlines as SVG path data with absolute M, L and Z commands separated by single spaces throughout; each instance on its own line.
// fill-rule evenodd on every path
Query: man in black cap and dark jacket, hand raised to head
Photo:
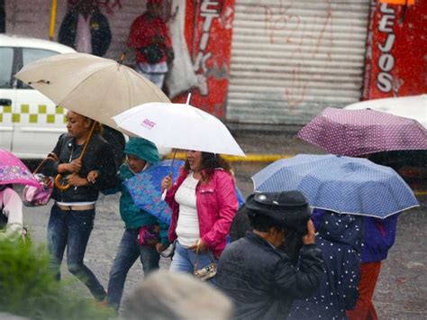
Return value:
M 235 319 L 286 318 L 293 300 L 310 297 L 323 275 L 306 199 L 299 191 L 256 193 L 245 206 L 253 231 L 223 251 L 217 286 L 232 298 Z M 298 268 L 277 250 L 291 231 L 304 243 Z

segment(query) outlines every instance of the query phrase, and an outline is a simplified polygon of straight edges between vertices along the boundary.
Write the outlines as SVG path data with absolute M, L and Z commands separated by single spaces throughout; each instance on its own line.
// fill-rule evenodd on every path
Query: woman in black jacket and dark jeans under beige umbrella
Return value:
M 92 119 L 68 111 L 68 133 L 59 136 L 52 151 L 58 160 L 47 160 L 41 173 L 50 177 L 61 174 L 70 186 L 64 190 L 55 186 L 52 193 L 55 203 L 50 210 L 48 248 L 57 279 L 60 279 L 60 265 L 67 247 L 68 270 L 90 289 L 97 300 L 102 301 L 106 295 L 104 287 L 86 267 L 84 257 L 94 227 L 99 191 L 114 187 L 115 165 L 111 148 L 100 133 L 95 132 L 87 142 L 93 125 Z M 80 160 L 86 142 L 86 153 Z M 93 170 L 99 171 L 99 177 L 95 182 L 89 182 L 86 177 Z

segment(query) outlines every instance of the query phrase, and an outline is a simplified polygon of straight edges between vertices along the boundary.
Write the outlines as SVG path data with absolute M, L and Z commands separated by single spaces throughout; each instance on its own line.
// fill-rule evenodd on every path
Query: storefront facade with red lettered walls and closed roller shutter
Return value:
M 192 105 L 228 123 L 304 124 L 326 106 L 425 93 L 427 5 L 407 1 L 165 0 L 188 56 L 179 71 L 188 83 L 173 100 L 184 102 L 191 91 Z M 58 1 L 54 40 L 75 2 Z M 145 1 L 98 3 L 113 32 L 106 57 L 127 50 L 132 65 L 126 41 Z M 47 39 L 50 5 L 5 0 L 6 32 Z

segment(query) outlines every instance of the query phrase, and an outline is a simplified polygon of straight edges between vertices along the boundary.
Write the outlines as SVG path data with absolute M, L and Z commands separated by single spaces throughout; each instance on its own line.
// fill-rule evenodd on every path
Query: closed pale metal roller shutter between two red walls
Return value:
M 362 94 L 368 0 L 238 0 L 226 117 L 304 124 Z

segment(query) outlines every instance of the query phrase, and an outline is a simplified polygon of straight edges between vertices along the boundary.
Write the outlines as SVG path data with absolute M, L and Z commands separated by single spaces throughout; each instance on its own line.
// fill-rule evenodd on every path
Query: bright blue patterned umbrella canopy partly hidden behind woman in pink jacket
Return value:
M 166 202 L 161 201 L 161 180 L 165 178 L 171 168 L 172 160 L 164 160 L 153 164 L 149 169 L 142 171 L 124 182 L 136 206 L 154 215 L 159 221 L 170 224 L 172 209 Z M 179 168 L 184 164 L 182 160 L 175 160 L 172 167 L 172 178 L 177 178 Z M 239 206 L 244 202 L 241 191 L 236 187 L 236 196 Z

